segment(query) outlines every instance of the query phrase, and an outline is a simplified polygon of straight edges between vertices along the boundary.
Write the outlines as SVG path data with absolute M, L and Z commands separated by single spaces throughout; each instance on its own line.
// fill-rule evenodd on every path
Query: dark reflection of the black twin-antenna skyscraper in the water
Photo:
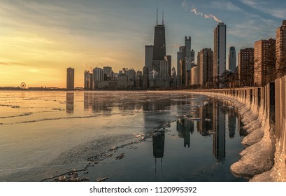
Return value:
M 162 172 L 162 159 L 164 157 L 164 145 L 165 145 L 165 132 L 157 131 L 152 134 L 152 144 L 153 144 L 153 157 L 155 158 L 155 174 L 157 173 L 157 158 L 161 162 L 161 172 Z

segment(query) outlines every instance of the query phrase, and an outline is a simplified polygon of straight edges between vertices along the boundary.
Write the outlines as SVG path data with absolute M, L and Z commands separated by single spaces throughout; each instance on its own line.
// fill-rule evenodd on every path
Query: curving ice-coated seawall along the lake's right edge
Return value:
M 231 165 L 250 181 L 286 181 L 286 76 L 264 87 L 192 90 L 231 102 L 249 133 L 241 160 Z

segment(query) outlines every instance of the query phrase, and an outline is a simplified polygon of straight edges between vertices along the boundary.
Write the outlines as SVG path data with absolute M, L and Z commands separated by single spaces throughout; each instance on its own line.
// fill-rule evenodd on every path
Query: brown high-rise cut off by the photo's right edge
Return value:
M 286 75 L 286 20 L 276 29 L 276 70 L 278 78 Z

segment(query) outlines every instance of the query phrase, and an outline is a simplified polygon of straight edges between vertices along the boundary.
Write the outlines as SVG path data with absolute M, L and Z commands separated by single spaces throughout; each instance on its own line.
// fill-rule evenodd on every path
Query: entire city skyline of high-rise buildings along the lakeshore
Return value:
M 158 21 L 158 20 L 157 20 Z M 202 48 L 194 58 L 191 36 L 177 52 L 177 67 L 166 55 L 164 18 L 155 26 L 152 45 L 145 45 L 143 71 L 123 68 L 114 73 L 112 67 L 96 67 L 85 71 L 85 90 L 168 90 L 263 86 L 286 74 L 286 20 L 276 30 L 276 39 L 255 41 L 254 48 L 238 52 L 229 46 L 227 66 L 227 25 L 219 22 L 213 30 L 212 48 Z M 67 71 L 66 88 L 74 88 L 74 69 Z

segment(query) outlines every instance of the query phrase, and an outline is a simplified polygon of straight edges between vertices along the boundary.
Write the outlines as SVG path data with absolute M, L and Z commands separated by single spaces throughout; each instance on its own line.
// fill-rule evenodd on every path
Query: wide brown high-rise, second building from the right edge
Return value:
M 255 85 L 264 86 L 276 78 L 276 41 L 273 38 L 255 42 Z

